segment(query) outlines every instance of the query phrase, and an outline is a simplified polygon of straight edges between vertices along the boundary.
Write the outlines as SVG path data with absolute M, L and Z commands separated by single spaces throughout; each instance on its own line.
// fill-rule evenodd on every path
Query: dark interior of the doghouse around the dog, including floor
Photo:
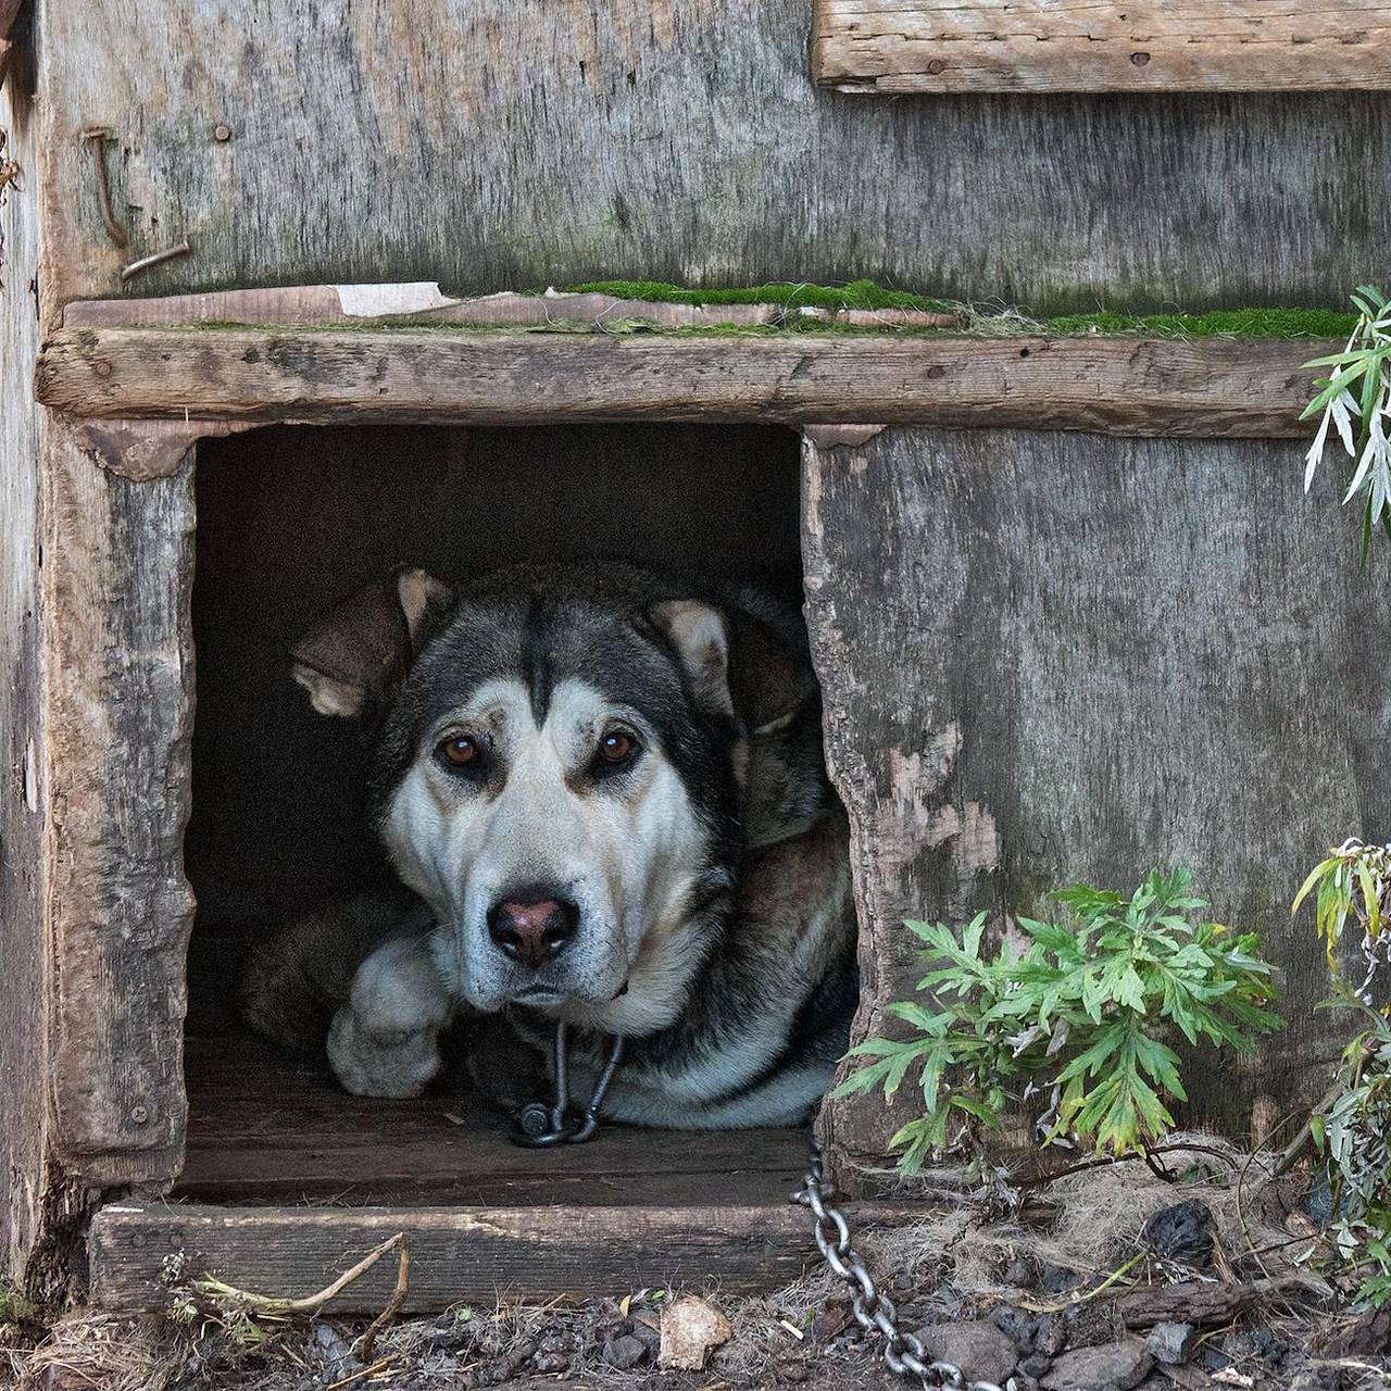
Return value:
M 480 1097 L 344 1095 L 319 1059 L 242 1028 L 246 947 L 384 871 L 362 822 L 366 750 L 310 712 L 288 651 L 398 563 L 448 579 L 625 558 L 801 595 L 797 435 L 764 427 L 275 427 L 198 449 L 188 1160 L 211 1202 L 761 1203 L 800 1171 L 793 1131 L 608 1127 L 517 1149 Z

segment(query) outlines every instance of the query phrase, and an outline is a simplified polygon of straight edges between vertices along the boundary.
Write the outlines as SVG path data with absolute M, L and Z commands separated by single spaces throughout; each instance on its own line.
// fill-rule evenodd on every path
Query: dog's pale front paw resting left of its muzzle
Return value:
M 453 1003 L 421 936 L 392 938 L 357 968 L 328 1029 L 328 1063 L 356 1096 L 420 1096 L 440 1075 Z

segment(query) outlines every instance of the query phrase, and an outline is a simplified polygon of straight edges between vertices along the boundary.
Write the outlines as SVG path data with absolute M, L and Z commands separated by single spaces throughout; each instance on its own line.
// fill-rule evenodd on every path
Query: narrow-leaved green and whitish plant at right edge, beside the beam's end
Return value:
M 1319 433 L 1305 459 L 1305 492 L 1323 459 L 1328 430 L 1334 428 L 1353 460 L 1352 481 L 1344 504 L 1362 495 L 1362 561 L 1366 563 L 1372 533 L 1381 526 L 1391 537 L 1391 306 L 1372 285 L 1359 285 L 1351 296 L 1358 323 L 1342 352 L 1314 357 L 1305 367 L 1330 367 L 1320 377 L 1317 394 L 1305 406 L 1301 420 L 1323 413 Z

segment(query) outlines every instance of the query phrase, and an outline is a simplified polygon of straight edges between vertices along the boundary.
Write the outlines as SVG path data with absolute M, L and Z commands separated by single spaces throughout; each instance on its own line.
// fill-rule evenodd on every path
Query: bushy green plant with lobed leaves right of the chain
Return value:
M 932 968 L 922 1003 L 889 1006 L 908 1039 L 871 1038 L 851 1050 L 865 1063 L 842 1093 L 882 1086 L 893 1096 L 910 1072 L 925 1114 L 894 1136 L 904 1174 L 957 1148 L 971 1123 L 997 1127 L 1011 1100 L 1047 1091 L 1045 1142 L 1114 1156 L 1143 1152 L 1173 1127 L 1170 1099 L 1185 1099 L 1168 1039 L 1249 1049 L 1280 1025 L 1276 995 L 1252 933 L 1195 918 L 1184 871 L 1153 871 L 1128 897 L 1075 885 L 1053 894 L 1071 925 L 1020 918 L 1028 946 L 982 951 L 986 915 L 958 942 L 940 922 L 908 922 Z

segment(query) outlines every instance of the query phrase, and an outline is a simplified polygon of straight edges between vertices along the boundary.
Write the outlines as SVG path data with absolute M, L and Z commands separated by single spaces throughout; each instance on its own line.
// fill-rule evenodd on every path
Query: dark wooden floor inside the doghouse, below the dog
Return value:
M 171 1195 L 178 1202 L 778 1207 L 805 1170 L 800 1129 L 606 1125 L 593 1145 L 563 1153 L 522 1149 L 508 1138 L 508 1117 L 477 1092 L 410 1102 L 346 1096 L 327 1066 L 200 1014 L 189 1020 L 185 1053 L 188 1159 Z

